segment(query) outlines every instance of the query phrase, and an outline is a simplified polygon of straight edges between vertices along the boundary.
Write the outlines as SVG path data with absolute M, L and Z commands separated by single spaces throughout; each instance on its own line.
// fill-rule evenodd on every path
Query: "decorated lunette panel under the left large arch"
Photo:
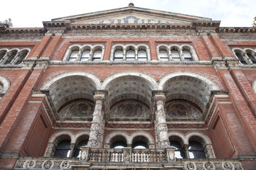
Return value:
M 80 100 L 69 103 L 58 113 L 60 119 L 80 120 L 81 118 L 92 118 L 94 103 L 89 100 Z

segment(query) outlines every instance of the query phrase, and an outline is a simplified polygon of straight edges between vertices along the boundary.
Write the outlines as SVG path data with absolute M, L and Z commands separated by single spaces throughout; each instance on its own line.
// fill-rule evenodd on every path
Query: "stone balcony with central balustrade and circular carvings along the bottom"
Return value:
M 14 169 L 242 169 L 239 159 L 176 159 L 174 148 L 80 149 L 80 158 L 19 157 Z

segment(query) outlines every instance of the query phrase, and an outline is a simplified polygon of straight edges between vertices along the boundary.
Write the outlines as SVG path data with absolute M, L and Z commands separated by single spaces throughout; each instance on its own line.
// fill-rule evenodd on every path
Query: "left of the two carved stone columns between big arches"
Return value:
M 105 100 L 105 94 L 97 93 L 93 96 L 95 99 L 95 111 L 93 112 L 92 125 L 90 127 L 90 137 L 88 141 L 88 147 L 100 148 L 102 147 L 102 124 L 104 124 L 104 111 L 102 112 L 103 101 Z M 103 127 L 104 132 L 104 127 Z

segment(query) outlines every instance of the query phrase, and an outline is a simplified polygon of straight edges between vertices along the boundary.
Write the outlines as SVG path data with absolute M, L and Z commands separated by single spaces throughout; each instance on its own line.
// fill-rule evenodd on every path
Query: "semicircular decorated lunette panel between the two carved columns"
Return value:
M 111 119 L 149 119 L 149 108 L 137 101 L 119 103 L 110 111 Z

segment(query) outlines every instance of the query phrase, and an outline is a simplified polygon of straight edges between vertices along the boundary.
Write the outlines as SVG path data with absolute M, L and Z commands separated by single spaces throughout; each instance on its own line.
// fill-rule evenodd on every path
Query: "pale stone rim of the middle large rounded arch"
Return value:
M 156 83 L 156 79 L 154 79 L 154 77 L 151 77 L 148 74 L 144 74 L 142 72 L 127 72 L 127 71 L 117 72 L 106 77 L 103 80 L 102 89 L 106 89 L 107 85 L 110 84 L 110 82 L 113 81 L 114 79 L 117 79 L 119 77 L 127 77 L 127 76 L 142 78 L 147 82 L 147 84 L 149 84 L 149 87 L 151 89 L 158 89 L 158 84 Z

